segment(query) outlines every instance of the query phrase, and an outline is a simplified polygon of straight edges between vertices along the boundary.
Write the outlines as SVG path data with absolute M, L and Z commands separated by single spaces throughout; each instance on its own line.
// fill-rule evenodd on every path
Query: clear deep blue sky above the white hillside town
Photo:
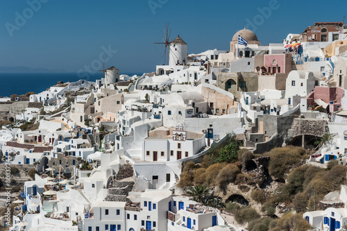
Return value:
M 29 0 L 35 1 L 47 0 Z M 101 46 L 110 46 L 117 53 L 106 66 L 113 65 L 121 73 L 154 71 L 164 62 L 162 46 L 153 42 L 162 40 L 165 22 L 170 24 L 172 39 L 179 34 L 188 44 L 188 53 L 198 53 L 228 50 L 232 35 L 248 24 L 246 19 L 259 20 L 255 33 L 266 45 L 281 42 L 288 33 L 302 33 L 314 22 L 341 22 L 347 6 L 346 1 L 278 0 L 269 17 L 260 17 L 258 8 L 273 1 L 49 0 L 35 12 L 28 10 L 27 1 L 1 0 L 0 66 L 77 72 L 99 60 Z M 153 14 L 149 2 L 161 8 Z M 24 24 L 16 24 L 16 12 L 26 14 Z M 6 28 L 10 24 L 18 25 L 11 27 L 12 37 Z

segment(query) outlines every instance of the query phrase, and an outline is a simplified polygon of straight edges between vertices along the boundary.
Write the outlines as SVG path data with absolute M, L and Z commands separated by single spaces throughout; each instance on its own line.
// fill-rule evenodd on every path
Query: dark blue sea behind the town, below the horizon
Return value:
M 122 73 L 121 73 L 122 74 Z M 124 73 L 128 76 L 142 76 L 142 73 Z M 47 88 L 56 85 L 58 81 L 64 83 L 76 82 L 80 79 L 95 82 L 103 78 L 103 74 L 96 72 L 90 73 L 0 73 L 0 96 L 11 96 L 12 94 L 26 94 L 35 92 L 38 94 Z

